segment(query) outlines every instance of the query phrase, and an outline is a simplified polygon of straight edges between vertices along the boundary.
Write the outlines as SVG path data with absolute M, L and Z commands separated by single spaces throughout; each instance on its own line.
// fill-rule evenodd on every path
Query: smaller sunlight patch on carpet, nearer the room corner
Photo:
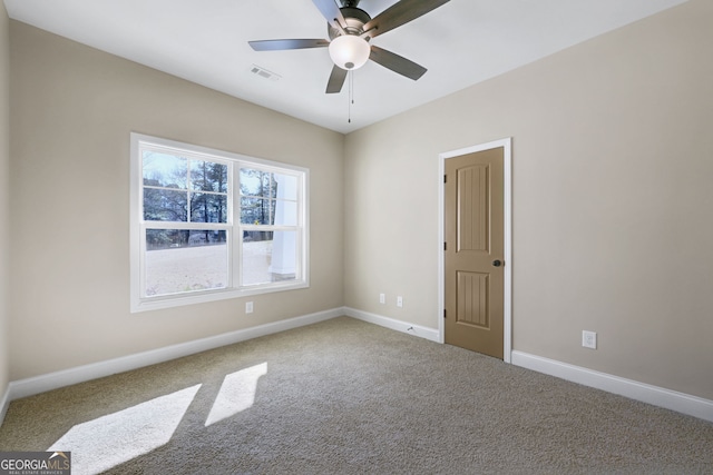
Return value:
M 255 403 L 257 379 L 266 374 L 267 363 L 263 363 L 225 376 L 205 426 L 207 427 L 252 407 Z

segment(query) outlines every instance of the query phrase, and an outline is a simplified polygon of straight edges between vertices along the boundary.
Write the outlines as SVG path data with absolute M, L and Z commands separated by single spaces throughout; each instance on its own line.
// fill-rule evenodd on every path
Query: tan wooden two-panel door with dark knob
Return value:
M 446 160 L 446 343 L 502 359 L 504 148 Z

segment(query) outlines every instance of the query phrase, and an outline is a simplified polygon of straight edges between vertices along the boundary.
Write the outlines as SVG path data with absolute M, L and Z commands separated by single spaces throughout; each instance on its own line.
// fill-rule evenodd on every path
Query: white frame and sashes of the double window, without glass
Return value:
M 146 311 L 184 305 L 202 304 L 228 298 L 247 297 L 252 295 L 294 290 L 310 286 L 309 259 L 309 177 L 310 170 L 294 165 L 287 165 L 261 158 L 247 157 L 223 150 L 215 150 L 175 140 L 152 137 L 131 132 L 130 135 L 130 311 Z M 228 165 L 228 218 L 226 224 L 147 221 L 143 212 L 144 176 L 141 150 L 159 149 L 169 154 L 189 156 Z M 279 225 L 255 227 L 241 224 L 241 192 L 240 168 L 252 168 L 281 175 L 290 175 L 297 179 L 297 225 L 282 227 Z M 188 211 L 191 212 L 191 211 Z M 206 289 L 184 294 L 145 296 L 145 253 L 146 229 L 179 228 L 179 229 L 226 229 L 228 231 L 228 283 L 225 288 Z M 267 229 L 271 228 L 271 229 Z M 295 279 L 242 286 L 241 263 L 243 249 L 243 230 L 296 230 L 297 263 Z

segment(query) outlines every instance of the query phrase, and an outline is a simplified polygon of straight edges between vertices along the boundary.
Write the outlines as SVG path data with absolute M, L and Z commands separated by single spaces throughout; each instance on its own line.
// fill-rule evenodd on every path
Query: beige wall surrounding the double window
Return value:
M 11 21 L 11 379 L 343 305 L 342 135 Z M 129 313 L 129 132 L 311 170 L 311 288 Z

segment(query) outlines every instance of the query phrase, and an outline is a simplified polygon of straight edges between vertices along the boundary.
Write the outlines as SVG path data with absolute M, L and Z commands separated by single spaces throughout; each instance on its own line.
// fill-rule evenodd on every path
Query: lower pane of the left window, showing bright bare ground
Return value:
M 228 285 L 224 230 L 147 229 L 146 249 L 147 297 Z

